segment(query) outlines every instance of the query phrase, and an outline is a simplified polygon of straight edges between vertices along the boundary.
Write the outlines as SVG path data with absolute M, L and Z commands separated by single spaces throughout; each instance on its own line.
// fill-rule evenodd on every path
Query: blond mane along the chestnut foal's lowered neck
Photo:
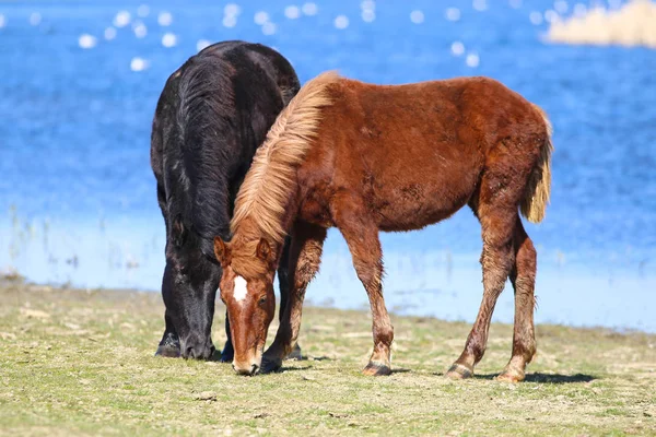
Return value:
M 250 218 L 261 236 L 282 244 L 286 235 L 282 217 L 295 170 L 317 134 L 321 108 L 332 103 L 327 87 L 339 79 L 336 72 L 316 76 L 280 113 L 265 143 L 257 150 L 237 194 L 231 221 L 233 235 Z

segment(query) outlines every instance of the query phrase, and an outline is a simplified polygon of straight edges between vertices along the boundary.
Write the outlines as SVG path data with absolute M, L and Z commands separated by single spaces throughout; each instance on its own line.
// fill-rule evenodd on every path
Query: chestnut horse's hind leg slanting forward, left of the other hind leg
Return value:
M 483 236 L 483 300 L 465 350 L 446 374 L 454 379 L 473 376 L 473 366 L 485 353 L 490 320 L 496 299 L 513 268 L 513 231 L 518 221 L 517 206 L 503 203 L 499 206 L 481 204 L 476 213 L 481 222 Z

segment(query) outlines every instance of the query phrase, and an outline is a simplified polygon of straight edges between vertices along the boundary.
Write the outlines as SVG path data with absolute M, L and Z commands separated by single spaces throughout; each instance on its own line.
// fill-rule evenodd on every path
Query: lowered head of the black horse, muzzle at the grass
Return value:
M 203 245 L 210 249 L 203 250 Z M 211 240 L 188 232 L 177 221 L 166 243 L 162 297 L 184 358 L 209 359 L 214 353 L 211 330 L 221 267 L 204 253 L 211 255 Z

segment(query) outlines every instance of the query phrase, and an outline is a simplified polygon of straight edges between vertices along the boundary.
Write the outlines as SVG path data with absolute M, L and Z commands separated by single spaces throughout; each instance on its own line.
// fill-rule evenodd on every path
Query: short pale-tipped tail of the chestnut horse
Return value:
M 551 193 L 551 152 L 553 145 L 551 143 L 551 122 L 547 118 L 547 114 L 537 105 L 534 108 L 540 114 L 544 120 L 547 128 L 547 139 L 540 146 L 540 156 L 536 163 L 522 199 L 522 215 L 529 222 L 540 223 L 544 218 L 549 196 Z

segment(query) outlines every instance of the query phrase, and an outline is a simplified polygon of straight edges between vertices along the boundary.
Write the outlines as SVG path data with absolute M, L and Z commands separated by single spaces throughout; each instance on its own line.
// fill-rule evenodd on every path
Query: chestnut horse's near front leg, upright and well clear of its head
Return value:
M 353 267 L 368 295 L 373 317 L 374 352 L 362 373 L 389 375 L 394 327 L 383 298 L 383 250 L 378 239 L 378 227 L 370 220 L 366 208 L 361 205 L 356 198 L 349 197 L 342 200 L 341 208 L 336 208 L 335 221 L 349 245 Z

